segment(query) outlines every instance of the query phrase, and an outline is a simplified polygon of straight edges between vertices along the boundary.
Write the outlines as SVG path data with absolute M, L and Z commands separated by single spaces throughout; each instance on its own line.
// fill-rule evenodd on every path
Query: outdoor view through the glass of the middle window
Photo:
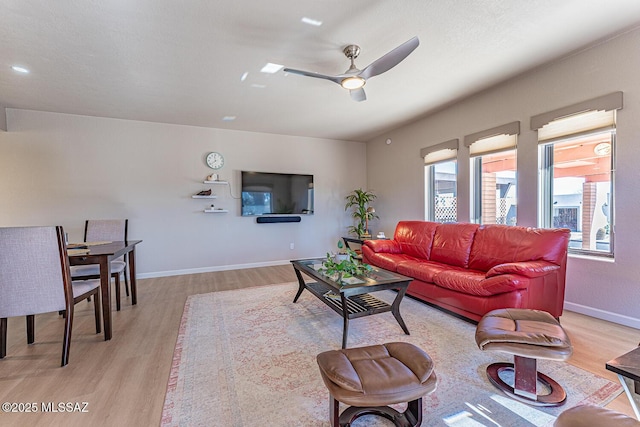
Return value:
M 471 159 L 472 222 L 516 225 L 516 150 Z

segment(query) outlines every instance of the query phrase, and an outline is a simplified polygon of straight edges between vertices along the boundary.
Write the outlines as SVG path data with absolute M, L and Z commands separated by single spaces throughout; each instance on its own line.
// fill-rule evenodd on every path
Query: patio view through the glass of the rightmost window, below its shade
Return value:
M 541 146 L 544 226 L 570 229 L 574 250 L 613 253 L 613 140 L 608 130 Z

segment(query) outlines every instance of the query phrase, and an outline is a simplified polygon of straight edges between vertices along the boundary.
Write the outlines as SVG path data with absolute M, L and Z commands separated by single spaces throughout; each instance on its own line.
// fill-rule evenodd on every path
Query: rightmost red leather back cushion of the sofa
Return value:
M 483 225 L 475 234 L 469 268 L 489 271 L 499 264 L 566 258 L 570 231 L 509 225 Z M 560 237 L 560 238 L 559 238 Z

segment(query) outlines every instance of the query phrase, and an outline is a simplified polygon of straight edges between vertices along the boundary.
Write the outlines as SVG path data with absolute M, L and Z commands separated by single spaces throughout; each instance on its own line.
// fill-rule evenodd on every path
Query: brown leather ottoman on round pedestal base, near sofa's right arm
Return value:
M 485 314 L 476 328 L 481 350 L 513 354 L 514 363 L 494 363 L 487 367 L 489 380 L 504 393 L 537 406 L 560 406 L 567 394 L 560 384 L 538 372 L 537 359 L 567 360 L 573 351 L 569 337 L 549 313 L 538 310 L 505 308 Z M 514 371 L 513 387 L 500 374 Z M 551 392 L 539 395 L 537 382 Z

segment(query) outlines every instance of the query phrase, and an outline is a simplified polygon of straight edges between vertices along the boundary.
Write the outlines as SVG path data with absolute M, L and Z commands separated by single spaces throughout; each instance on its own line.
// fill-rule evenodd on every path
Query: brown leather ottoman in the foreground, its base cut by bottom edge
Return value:
M 331 350 L 317 356 L 329 389 L 333 427 L 347 427 L 362 415 L 383 416 L 398 427 L 422 423 L 422 397 L 436 389 L 433 361 L 413 344 L 394 342 Z M 339 415 L 339 402 L 351 405 Z M 386 405 L 408 402 L 400 413 Z

